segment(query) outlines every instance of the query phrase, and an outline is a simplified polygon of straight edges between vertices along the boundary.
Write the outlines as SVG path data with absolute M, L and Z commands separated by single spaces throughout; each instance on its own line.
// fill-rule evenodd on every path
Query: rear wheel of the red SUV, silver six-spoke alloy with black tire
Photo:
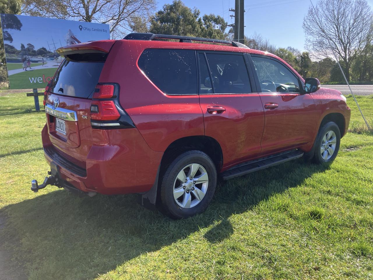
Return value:
M 192 179 L 187 175 L 192 175 Z M 214 196 L 216 181 L 216 167 L 206 153 L 198 150 L 182 153 L 164 172 L 160 211 L 172 219 L 205 211 Z

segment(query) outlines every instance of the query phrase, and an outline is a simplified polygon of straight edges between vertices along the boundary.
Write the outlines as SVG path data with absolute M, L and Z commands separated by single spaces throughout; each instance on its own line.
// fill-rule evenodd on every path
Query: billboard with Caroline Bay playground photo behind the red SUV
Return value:
M 110 39 L 108 24 L 1 14 L 10 89 L 43 88 L 63 58 L 63 46 Z

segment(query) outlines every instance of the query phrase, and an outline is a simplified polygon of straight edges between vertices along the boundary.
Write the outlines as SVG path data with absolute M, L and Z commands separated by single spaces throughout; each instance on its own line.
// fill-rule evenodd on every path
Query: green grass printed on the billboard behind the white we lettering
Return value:
M 38 83 L 37 80 L 34 80 L 33 83 L 30 82 L 29 78 L 38 78 L 38 77 L 53 77 L 56 72 L 56 68 L 45 68 L 45 69 L 36 69 L 32 71 L 23 71 L 18 74 L 13 74 L 9 76 L 9 84 L 11 89 L 16 88 L 41 88 L 46 87 L 47 83 Z

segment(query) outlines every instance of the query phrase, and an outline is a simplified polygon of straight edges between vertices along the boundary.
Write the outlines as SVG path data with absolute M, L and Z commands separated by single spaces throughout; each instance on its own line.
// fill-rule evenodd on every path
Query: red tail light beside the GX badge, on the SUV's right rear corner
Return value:
M 112 127 L 119 125 L 113 123 L 120 118 L 120 113 L 115 104 L 115 86 L 112 84 L 98 84 L 91 101 L 91 124 L 95 127 Z M 98 121 L 98 122 L 97 122 Z

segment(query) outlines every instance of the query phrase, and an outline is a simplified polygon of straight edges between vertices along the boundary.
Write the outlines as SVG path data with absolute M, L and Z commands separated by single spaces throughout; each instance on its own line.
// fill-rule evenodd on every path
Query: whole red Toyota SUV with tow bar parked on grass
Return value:
M 233 41 L 131 33 L 57 52 L 42 131 L 51 171 L 34 192 L 140 193 L 143 205 L 189 217 L 218 177 L 333 161 L 350 122 L 341 92 Z

